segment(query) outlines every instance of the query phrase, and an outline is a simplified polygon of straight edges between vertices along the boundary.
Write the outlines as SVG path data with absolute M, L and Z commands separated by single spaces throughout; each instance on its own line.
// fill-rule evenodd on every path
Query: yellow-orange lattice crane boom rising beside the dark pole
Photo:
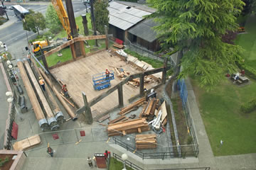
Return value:
M 61 0 L 52 0 L 52 4 L 58 14 L 58 18 L 60 18 L 60 23 L 63 25 L 64 30 L 68 34 L 68 40 L 71 40 L 72 35 L 70 30 L 70 23 L 68 21 L 68 14 L 63 6 L 63 2 Z

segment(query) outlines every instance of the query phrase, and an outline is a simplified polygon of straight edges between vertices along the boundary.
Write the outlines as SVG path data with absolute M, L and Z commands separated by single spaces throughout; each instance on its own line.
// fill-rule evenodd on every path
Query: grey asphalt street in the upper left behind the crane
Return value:
M 50 2 L 42 2 L 36 4 L 22 4 L 23 8 L 32 9 L 36 12 L 41 12 L 43 15 L 46 14 L 47 6 Z M 13 4 L 5 3 L 5 5 L 11 6 Z M 76 16 L 80 16 L 82 13 L 85 13 L 85 6 L 82 1 L 73 1 L 73 11 Z M 0 41 L 6 43 L 11 52 L 11 55 L 18 59 L 26 56 L 25 47 L 27 46 L 26 31 L 23 30 L 22 22 L 14 15 L 14 11 L 7 10 L 7 14 L 10 18 L 10 21 L 13 22 L 11 26 L 6 28 L 0 27 Z M 33 40 L 36 38 L 37 33 L 32 31 L 27 31 L 28 40 Z

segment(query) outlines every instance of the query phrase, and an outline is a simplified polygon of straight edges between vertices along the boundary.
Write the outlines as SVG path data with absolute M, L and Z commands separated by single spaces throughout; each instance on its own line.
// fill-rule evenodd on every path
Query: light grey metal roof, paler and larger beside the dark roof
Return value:
M 136 23 L 139 23 L 139 21 L 142 21 L 143 16 L 151 14 L 150 12 L 119 4 L 115 1 L 110 2 L 110 6 L 108 6 L 107 9 L 110 11 L 109 23 L 122 30 L 131 28 Z

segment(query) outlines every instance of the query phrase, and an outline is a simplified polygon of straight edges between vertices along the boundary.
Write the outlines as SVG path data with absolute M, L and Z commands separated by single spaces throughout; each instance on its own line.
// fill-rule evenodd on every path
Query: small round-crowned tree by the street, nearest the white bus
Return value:
M 25 22 L 23 21 L 23 29 L 28 31 L 32 30 L 39 35 L 39 30 L 46 29 L 46 19 L 40 12 L 36 13 L 33 10 L 29 10 L 29 12 L 30 13 L 25 16 Z

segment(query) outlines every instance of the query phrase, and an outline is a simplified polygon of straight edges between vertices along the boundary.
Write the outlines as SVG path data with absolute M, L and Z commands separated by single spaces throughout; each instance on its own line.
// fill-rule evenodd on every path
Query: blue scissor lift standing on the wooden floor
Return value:
M 109 77 L 107 77 L 105 72 L 95 74 L 92 76 L 93 88 L 98 91 L 106 89 L 111 86 L 110 81 L 112 79 L 114 79 L 113 71 L 110 71 Z

